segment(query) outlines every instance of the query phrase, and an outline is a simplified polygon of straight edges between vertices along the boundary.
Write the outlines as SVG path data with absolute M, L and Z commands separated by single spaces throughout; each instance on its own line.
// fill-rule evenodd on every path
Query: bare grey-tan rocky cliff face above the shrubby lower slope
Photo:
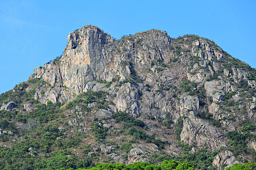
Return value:
M 147 133 L 159 134 L 158 138 L 171 143 L 166 149 L 171 155 L 181 153 L 174 138 L 175 124 L 168 133 L 150 119 L 176 124 L 182 120 L 177 133 L 181 141 L 208 151 L 229 147 L 225 134 L 240 130 L 242 121 L 255 123 L 255 69 L 229 56 L 211 40 L 193 35 L 172 39 L 156 29 L 114 40 L 92 25 L 69 33 L 67 40 L 63 55 L 36 67 L 29 78 L 48 83 L 35 89 L 34 99 L 42 104 L 67 104 L 88 91 L 108 92 L 109 108 L 95 111 L 95 117 L 111 120 L 114 112 L 125 111 L 142 118 Z M 76 126 L 72 121 L 71 125 Z M 254 144 L 250 145 L 255 145 L 251 140 Z M 105 154 L 112 152 L 109 149 L 101 146 Z M 148 153 L 158 151 L 158 146 L 145 143 L 134 146 L 127 162 L 147 161 Z M 119 155 L 108 156 L 125 162 Z M 213 164 L 221 168 L 222 163 L 237 162 L 236 156 L 223 151 L 214 157 Z M 240 162 L 253 161 L 246 154 L 239 156 Z

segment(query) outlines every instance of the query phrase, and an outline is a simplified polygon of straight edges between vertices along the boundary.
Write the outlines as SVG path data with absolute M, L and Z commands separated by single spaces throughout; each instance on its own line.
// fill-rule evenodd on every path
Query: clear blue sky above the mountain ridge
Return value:
M 69 32 L 96 25 L 116 39 L 149 29 L 195 34 L 256 67 L 256 1 L 0 1 L 0 94 L 60 56 Z

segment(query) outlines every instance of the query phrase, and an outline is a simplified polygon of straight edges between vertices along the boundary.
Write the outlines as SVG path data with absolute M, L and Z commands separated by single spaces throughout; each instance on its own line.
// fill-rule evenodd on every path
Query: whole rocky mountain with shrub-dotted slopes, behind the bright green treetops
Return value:
M 67 40 L 0 96 L 2 169 L 255 163 L 256 70 L 212 40 L 156 29 L 115 40 L 92 25 Z

